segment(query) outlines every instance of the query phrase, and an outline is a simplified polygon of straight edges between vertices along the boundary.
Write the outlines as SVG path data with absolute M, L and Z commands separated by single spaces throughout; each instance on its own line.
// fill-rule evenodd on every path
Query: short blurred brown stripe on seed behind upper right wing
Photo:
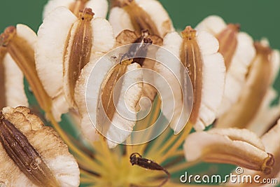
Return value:
M 235 55 L 237 49 L 237 34 L 239 32 L 239 25 L 229 24 L 223 31 L 216 36 L 219 41 L 220 48 L 218 50 L 225 60 L 225 68 L 228 71 L 232 57 Z

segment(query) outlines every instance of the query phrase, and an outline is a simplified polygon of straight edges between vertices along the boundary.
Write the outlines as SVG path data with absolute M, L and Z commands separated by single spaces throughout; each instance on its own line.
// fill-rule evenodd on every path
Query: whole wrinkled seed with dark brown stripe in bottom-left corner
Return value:
M 0 142 L 0 181 L 6 186 L 79 185 L 78 164 L 66 144 L 26 107 L 3 108 Z

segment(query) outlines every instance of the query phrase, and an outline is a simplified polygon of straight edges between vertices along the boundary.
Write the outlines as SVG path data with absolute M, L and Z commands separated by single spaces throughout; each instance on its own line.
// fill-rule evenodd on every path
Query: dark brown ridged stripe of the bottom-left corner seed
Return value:
M 0 113 L 0 141 L 6 153 L 28 179 L 38 186 L 59 186 L 41 155 L 15 125 Z

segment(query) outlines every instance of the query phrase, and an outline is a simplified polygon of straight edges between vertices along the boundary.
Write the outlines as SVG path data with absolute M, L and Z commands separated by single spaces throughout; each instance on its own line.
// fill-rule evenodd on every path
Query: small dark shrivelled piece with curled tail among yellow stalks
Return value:
M 132 165 L 139 165 L 140 167 L 144 167 L 146 169 L 160 170 L 165 172 L 168 177 L 165 179 L 165 181 L 162 181 L 162 183 L 160 183 L 159 187 L 163 186 L 170 179 L 170 174 L 167 171 L 167 169 L 160 166 L 158 163 L 154 162 L 153 160 L 142 158 L 142 156 L 139 153 L 132 153 L 130 155 L 130 163 L 132 163 Z

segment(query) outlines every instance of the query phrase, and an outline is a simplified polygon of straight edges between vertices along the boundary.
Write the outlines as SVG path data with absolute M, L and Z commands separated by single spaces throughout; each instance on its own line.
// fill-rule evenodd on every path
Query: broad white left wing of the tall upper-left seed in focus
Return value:
M 38 29 L 36 69 L 45 91 L 54 98 L 62 92 L 65 42 L 76 16 L 64 7 L 52 11 Z

